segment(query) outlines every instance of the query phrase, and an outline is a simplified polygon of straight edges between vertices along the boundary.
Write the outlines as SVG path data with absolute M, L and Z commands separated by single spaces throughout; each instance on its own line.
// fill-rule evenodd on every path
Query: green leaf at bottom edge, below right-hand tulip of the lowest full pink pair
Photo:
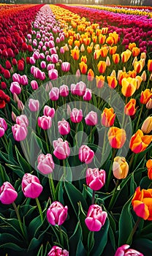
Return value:
M 102 229 L 94 233 L 94 248 L 91 251 L 91 256 L 100 256 L 107 244 L 107 233 L 109 230 L 109 219 L 107 218 Z

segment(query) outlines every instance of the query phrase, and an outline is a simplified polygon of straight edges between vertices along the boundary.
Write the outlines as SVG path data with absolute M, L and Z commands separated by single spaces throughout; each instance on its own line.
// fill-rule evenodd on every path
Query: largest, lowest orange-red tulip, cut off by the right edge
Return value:
M 152 220 L 152 189 L 137 187 L 132 198 L 132 207 L 138 217 Z

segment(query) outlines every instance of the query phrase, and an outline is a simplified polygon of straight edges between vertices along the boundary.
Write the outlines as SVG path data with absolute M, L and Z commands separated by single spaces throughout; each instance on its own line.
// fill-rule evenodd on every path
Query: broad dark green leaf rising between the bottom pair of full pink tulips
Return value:
M 83 197 L 83 194 L 76 189 L 74 185 L 72 185 L 69 182 L 64 182 L 64 187 L 66 189 L 66 194 L 69 197 L 69 201 L 72 204 L 73 210 L 75 211 L 75 214 L 78 215 L 78 203 L 80 202 L 83 206 L 83 209 L 87 211 L 88 206 L 86 203 L 86 200 Z

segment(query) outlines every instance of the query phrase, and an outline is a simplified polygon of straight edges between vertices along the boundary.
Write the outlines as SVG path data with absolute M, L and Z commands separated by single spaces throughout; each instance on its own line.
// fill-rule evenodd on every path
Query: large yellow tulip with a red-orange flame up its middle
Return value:
M 121 92 L 125 97 L 131 97 L 136 91 L 137 81 L 135 78 L 123 78 Z

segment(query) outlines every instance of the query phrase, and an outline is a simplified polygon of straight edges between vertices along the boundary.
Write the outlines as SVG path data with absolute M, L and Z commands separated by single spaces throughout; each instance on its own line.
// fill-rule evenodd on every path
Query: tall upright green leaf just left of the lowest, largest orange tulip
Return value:
M 119 219 L 118 246 L 126 244 L 126 241 L 132 232 L 132 214 L 130 211 L 131 200 L 132 197 L 126 202 L 121 211 L 121 217 Z

